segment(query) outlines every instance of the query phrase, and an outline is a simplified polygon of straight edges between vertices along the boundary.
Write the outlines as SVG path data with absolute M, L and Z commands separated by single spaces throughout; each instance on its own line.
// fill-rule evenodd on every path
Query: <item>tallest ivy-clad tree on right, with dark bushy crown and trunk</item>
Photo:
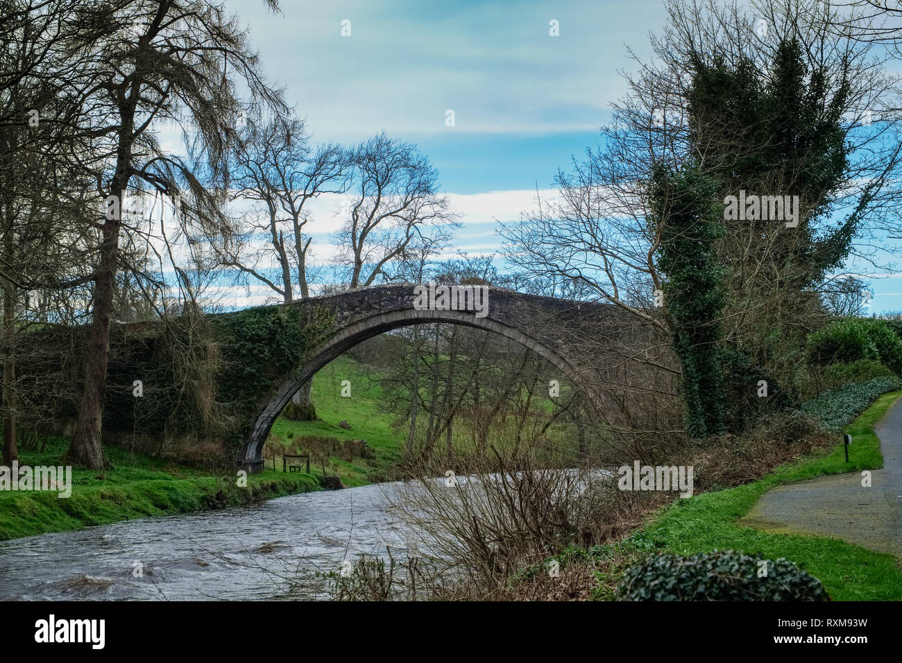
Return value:
M 730 293 L 723 368 L 731 428 L 765 405 L 795 401 L 805 336 L 820 317 L 817 294 L 840 268 L 869 213 L 875 177 L 850 205 L 848 109 L 851 56 L 810 64 L 798 35 L 781 35 L 769 58 L 694 63 L 687 94 L 688 142 L 725 200 L 797 200 L 790 217 L 727 217 L 717 243 Z M 796 198 L 797 197 L 797 198 Z M 772 198 L 771 198 L 772 199 Z M 769 210 L 773 212 L 774 210 Z M 769 401 L 759 399 L 759 381 Z

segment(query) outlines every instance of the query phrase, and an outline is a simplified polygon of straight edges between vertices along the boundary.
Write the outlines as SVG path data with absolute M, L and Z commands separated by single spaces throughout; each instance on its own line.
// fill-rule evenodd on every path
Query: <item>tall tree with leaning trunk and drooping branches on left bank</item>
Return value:
M 126 191 L 130 185 L 146 186 L 175 199 L 187 189 L 188 204 L 177 215 L 181 230 L 186 238 L 198 240 L 199 235 L 213 241 L 229 231 L 221 203 L 227 157 L 235 142 L 233 127 L 241 110 L 236 82 L 250 89 L 258 105 L 285 109 L 262 77 L 246 32 L 221 5 L 207 0 L 117 0 L 92 11 L 93 24 L 103 26 L 90 72 L 102 112 L 89 122 L 109 144 L 109 167 L 97 188 L 108 207 L 97 224 L 101 241 L 87 372 L 67 459 L 101 468 L 109 330 Z M 153 130 L 165 121 L 182 128 L 190 147 L 187 160 L 161 150 Z M 180 277 L 179 282 L 187 285 Z

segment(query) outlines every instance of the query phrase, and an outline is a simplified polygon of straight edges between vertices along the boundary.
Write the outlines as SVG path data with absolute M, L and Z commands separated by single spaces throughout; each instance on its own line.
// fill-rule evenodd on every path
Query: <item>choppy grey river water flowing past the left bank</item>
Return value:
M 362 554 L 402 555 L 400 484 L 303 493 L 259 506 L 127 520 L 0 542 L 0 600 L 281 598 Z M 140 574 L 137 571 L 140 570 Z

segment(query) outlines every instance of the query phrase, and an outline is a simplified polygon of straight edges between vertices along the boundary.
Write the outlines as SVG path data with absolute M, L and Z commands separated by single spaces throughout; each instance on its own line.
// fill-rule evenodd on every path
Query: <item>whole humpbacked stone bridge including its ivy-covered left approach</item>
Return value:
M 314 373 L 368 338 L 435 322 L 483 329 L 528 347 L 554 366 L 549 380 L 575 382 L 590 415 L 609 427 L 629 425 L 626 410 L 659 391 L 660 362 L 648 355 L 661 344 L 647 342 L 643 336 L 654 333 L 651 326 L 619 307 L 476 286 L 449 286 L 463 290 L 448 297 L 436 286 L 433 297 L 429 287 L 382 285 L 187 315 L 165 325 L 115 324 L 104 441 L 155 455 L 171 449 L 198 460 L 225 453 L 222 460 L 258 472 L 273 421 Z M 40 396 L 32 400 L 41 408 L 34 426 L 51 422 L 52 432 L 70 435 L 87 361 L 87 328 L 47 326 L 35 334 L 31 364 L 22 367 Z

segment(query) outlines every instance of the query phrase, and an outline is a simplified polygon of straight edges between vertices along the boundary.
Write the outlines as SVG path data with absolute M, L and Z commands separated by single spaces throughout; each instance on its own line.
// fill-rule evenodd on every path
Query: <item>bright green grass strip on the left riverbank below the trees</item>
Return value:
M 19 465 L 60 465 L 68 447 L 69 440 L 51 438 L 43 453 L 22 451 Z M 263 472 L 249 476 L 247 487 L 242 488 L 237 485 L 236 473 L 214 476 L 116 447 L 104 451 L 111 468 L 100 473 L 72 468 L 68 498 L 49 491 L 0 491 L 0 540 L 219 509 L 318 489 L 317 479 L 308 474 Z

